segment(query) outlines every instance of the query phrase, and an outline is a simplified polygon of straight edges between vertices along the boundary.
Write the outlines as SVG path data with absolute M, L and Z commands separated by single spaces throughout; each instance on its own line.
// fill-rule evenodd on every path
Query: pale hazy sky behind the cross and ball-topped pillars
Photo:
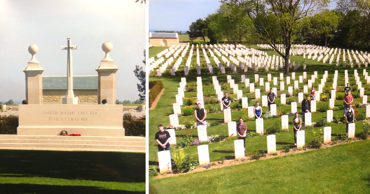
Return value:
M 110 41 L 117 64 L 117 99 L 139 98 L 135 65 L 143 66 L 145 4 L 134 0 L 0 0 L 0 101 L 26 99 L 22 71 L 36 44 L 43 75 L 66 75 L 67 52 L 61 46 L 71 37 L 73 75 L 97 75 L 104 58 L 101 44 Z M 145 68 L 144 68 L 145 69 Z

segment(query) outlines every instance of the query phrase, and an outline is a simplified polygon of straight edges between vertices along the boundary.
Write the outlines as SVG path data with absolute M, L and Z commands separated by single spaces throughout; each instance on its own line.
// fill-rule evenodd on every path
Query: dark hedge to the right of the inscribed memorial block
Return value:
M 125 128 L 125 136 L 145 137 L 145 116 L 140 118 L 131 115 L 124 116 L 123 128 Z

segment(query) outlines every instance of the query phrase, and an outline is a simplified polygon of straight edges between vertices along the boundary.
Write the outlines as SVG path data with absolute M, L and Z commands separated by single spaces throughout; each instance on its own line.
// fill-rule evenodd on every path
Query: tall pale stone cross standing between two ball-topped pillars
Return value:
M 62 50 L 67 50 L 67 94 L 65 97 L 74 97 L 73 93 L 73 74 L 72 74 L 72 52 L 77 49 L 77 45 L 71 45 L 71 37 L 67 38 L 67 46 L 62 46 Z

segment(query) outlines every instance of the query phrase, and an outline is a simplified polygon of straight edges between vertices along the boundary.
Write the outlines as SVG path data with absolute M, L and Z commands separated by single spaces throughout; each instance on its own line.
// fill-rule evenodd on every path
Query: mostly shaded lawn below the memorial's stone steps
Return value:
M 145 193 L 145 153 L 0 150 L 0 193 Z

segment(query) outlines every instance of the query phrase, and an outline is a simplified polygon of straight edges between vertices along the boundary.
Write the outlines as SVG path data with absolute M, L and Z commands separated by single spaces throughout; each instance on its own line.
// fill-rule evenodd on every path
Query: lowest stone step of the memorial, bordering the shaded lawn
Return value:
M 121 149 L 94 149 L 94 148 L 73 148 L 73 147 L 0 147 L 0 149 L 11 150 L 54 150 L 54 151 L 95 151 L 95 152 L 142 152 L 145 150 L 121 150 Z

